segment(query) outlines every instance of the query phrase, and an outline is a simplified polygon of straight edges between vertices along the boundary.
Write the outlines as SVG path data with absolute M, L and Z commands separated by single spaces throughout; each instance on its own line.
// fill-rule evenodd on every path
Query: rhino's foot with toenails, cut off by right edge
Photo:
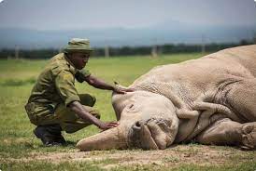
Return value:
M 244 150 L 256 149 L 256 123 L 247 123 L 242 127 L 242 146 Z

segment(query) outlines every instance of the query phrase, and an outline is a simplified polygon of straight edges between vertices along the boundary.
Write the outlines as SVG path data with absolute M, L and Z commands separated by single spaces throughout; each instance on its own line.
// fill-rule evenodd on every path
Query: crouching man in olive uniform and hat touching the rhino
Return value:
M 100 89 L 117 93 L 133 91 L 108 85 L 92 76 L 84 67 L 91 55 L 92 48 L 88 39 L 72 39 L 60 53 L 50 59 L 37 78 L 36 85 L 25 105 L 36 138 L 44 145 L 65 144 L 62 131 L 74 133 L 87 125 L 97 125 L 102 130 L 115 127 L 117 122 L 102 122 L 99 112 L 92 106 L 96 99 L 89 94 L 78 95 L 75 79 Z M 82 70 L 83 69 L 83 70 Z

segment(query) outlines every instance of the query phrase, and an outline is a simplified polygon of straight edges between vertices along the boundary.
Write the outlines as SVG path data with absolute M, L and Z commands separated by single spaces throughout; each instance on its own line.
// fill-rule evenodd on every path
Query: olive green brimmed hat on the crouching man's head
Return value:
M 91 53 L 92 47 L 90 46 L 89 39 L 72 38 L 68 45 L 64 47 L 64 53 L 80 52 Z

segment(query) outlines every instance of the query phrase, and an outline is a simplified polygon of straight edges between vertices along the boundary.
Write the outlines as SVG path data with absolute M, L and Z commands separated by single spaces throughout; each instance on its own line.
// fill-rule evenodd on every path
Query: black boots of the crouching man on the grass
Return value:
M 34 134 L 36 138 L 40 138 L 46 146 L 65 144 L 60 125 L 38 125 L 34 130 Z

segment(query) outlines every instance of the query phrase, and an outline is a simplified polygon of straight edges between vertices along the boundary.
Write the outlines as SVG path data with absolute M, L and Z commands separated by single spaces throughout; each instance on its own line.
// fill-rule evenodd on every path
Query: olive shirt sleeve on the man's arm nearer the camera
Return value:
M 75 87 L 74 75 L 71 72 L 60 72 L 55 78 L 55 86 L 60 97 L 64 100 L 65 106 L 68 106 L 72 101 L 80 101 Z

